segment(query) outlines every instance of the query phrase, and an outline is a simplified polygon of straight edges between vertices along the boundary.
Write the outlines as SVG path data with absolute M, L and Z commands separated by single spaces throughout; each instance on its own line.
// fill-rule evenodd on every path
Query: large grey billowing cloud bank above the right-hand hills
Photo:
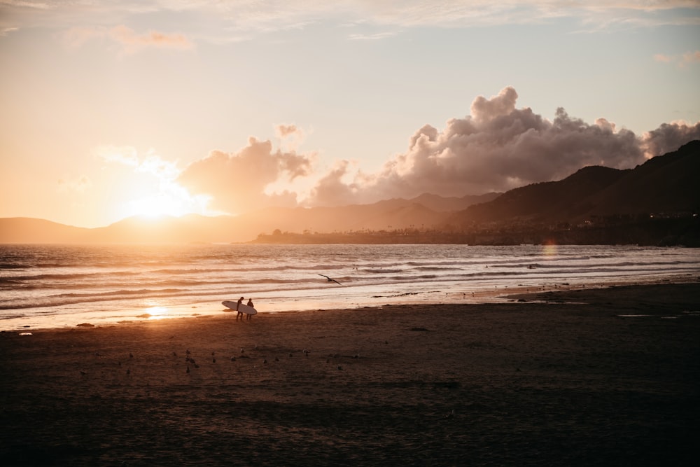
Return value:
M 375 202 L 421 193 L 443 196 L 503 192 L 529 183 L 560 180 L 588 165 L 627 169 L 652 155 L 675 151 L 700 139 L 700 123 L 661 125 L 637 137 L 598 118 L 573 118 L 563 108 L 547 120 L 517 109 L 517 92 L 507 87 L 489 99 L 474 99 L 470 116 L 447 121 L 444 130 L 424 125 L 409 138 L 407 151 L 377 174 L 349 173 L 339 162 L 311 191 L 312 205 Z

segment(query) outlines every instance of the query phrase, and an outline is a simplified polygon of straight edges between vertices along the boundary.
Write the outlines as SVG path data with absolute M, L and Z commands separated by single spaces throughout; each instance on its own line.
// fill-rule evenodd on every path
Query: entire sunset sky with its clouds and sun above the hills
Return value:
M 0 70 L 0 217 L 461 197 L 700 139 L 700 0 L 0 0 Z

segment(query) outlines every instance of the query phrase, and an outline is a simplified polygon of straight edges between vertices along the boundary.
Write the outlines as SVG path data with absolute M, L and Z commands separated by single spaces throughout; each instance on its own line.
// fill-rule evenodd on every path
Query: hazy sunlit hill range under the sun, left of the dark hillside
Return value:
M 396 199 L 343 207 L 267 208 L 240 216 L 132 217 L 92 229 L 42 219 L 0 218 L 0 243 L 229 243 L 248 242 L 274 230 L 301 233 L 430 228 L 451 214 L 448 207 L 465 207 L 470 200 L 495 196 L 418 198 L 436 209 L 415 200 Z

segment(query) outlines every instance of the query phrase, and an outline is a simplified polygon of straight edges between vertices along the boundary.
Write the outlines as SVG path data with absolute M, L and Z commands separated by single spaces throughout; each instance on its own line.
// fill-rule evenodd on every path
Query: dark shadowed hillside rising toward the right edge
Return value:
M 449 216 L 447 224 L 584 221 L 595 216 L 691 213 L 700 209 L 700 141 L 634 169 L 584 167 L 561 181 L 533 183 Z

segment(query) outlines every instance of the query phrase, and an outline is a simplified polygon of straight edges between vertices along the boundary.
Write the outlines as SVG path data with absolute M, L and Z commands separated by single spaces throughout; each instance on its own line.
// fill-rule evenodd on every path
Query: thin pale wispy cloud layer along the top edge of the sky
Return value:
M 700 25 L 700 4 L 696 0 L 126 0 L 61 1 L 5 0 L 0 2 L 0 27 L 63 27 L 76 25 L 130 24 L 132 18 L 172 20 L 181 15 L 200 19 L 195 28 L 206 24 L 216 41 L 251 39 L 288 29 L 330 23 L 370 25 L 374 27 L 472 27 L 508 24 L 540 24 L 558 18 L 571 18 L 588 29 L 619 25 L 652 27 L 658 25 Z M 381 39 L 387 33 L 353 34 L 351 39 Z M 391 34 L 391 33 L 388 33 Z M 136 39 L 158 43 L 158 33 L 127 34 Z M 214 40 L 214 39 L 212 39 Z M 173 42 L 174 41 L 174 42 Z M 169 46 L 186 42 L 168 36 Z M 132 43 L 133 45 L 133 43 Z M 162 43 L 161 43 L 162 45 Z

